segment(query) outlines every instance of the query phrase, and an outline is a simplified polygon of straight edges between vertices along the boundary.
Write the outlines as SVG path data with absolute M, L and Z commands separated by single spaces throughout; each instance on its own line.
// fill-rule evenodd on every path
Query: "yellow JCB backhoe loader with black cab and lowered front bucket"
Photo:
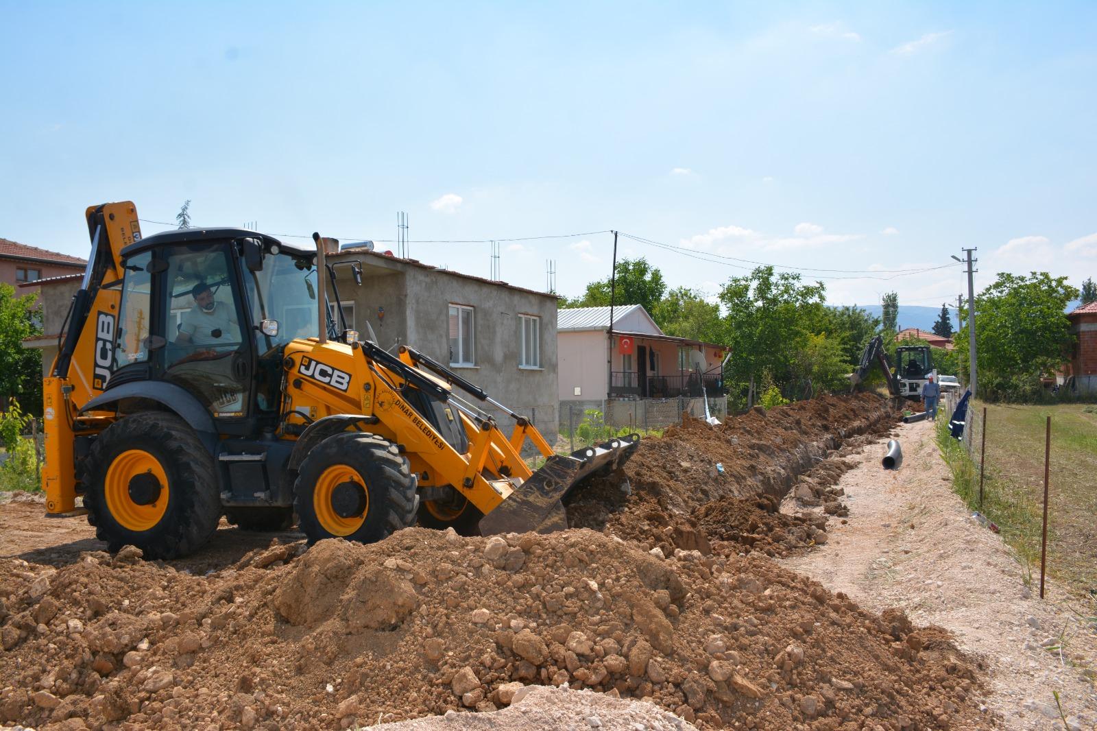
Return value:
M 87 221 L 91 256 L 44 383 L 43 487 L 48 515 L 87 514 L 111 550 L 180 556 L 222 515 L 264 530 L 296 514 L 310 543 L 376 541 L 417 520 L 547 532 L 566 527 L 561 501 L 575 485 L 638 443 L 554 454 L 524 417 L 441 363 L 336 327 L 335 239 L 142 238 L 129 202 L 89 207 Z M 504 408 L 513 431 L 457 390 Z M 525 440 L 546 458 L 536 472 Z

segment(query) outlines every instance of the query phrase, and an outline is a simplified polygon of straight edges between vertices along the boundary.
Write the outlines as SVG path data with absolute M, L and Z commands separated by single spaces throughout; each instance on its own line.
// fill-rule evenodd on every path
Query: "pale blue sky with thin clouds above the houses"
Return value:
M 1097 3 L 0 1 L 0 236 L 87 252 L 83 209 L 488 244 L 615 228 L 672 285 L 721 257 L 1097 274 Z M 161 229 L 144 224 L 146 235 Z M 577 294 L 608 234 L 504 241 Z M 394 245 L 381 245 L 394 247 Z M 692 256 L 689 256 L 692 255 Z M 698 258 L 700 257 L 700 258 Z M 717 263 L 719 261 L 720 263 Z M 829 299 L 955 301 L 959 266 L 805 271 Z

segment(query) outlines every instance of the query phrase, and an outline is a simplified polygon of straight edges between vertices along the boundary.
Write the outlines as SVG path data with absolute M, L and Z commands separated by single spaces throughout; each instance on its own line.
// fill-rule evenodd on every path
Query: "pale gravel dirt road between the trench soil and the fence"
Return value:
M 881 470 L 885 441 L 855 456 L 858 466 L 838 483 L 848 524 L 828 526 L 826 546 L 782 563 L 872 610 L 901 607 L 916 625 L 951 630 L 991 668 L 987 704 L 1008 728 L 1062 728 L 1053 691 L 1071 728 L 1094 728 L 1094 607 L 1055 583 L 1047 600 L 1036 596 L 1039 574 L 1027 585 L 1008 547 L 951 492 L 932 424 L 903 425 L 896 435 L 902 469 Z

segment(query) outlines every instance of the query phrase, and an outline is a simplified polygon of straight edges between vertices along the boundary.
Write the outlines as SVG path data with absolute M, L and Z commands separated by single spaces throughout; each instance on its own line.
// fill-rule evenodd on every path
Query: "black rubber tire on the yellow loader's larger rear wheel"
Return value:
M 118 454 L 132 449 L 142 449 L 157 459 L 169 487 L 163 516 L 142 531 L 120 525 L 104 496 L 108 468 Z M 88 522 L 111 552 L 136 546 L 146 559 L 178 559 L 204 544 L 220 520 L 213 458 L 194 430 L 174 414 L 132 414 L 109 426 L 83 460 L 80 482 L 84 485 Z

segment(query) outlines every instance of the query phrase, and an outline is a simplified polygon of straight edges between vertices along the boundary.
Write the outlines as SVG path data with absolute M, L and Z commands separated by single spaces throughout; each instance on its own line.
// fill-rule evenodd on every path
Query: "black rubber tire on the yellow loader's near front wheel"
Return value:
M 365 518 L 349 536 L 329 532 L 317 518 L 313 503 L 317 480 L 335 465 L 354 470 L 369 493 Z M 407 459 L 384 437 L 357 431 L 333 435 L 314 447 L 301 463 L 293 488 L 297 527 L 309 546 L 325 538 L 346 538 L 361 543 L 380 541 L 415 524 L 419 507 L 417 485 Z

